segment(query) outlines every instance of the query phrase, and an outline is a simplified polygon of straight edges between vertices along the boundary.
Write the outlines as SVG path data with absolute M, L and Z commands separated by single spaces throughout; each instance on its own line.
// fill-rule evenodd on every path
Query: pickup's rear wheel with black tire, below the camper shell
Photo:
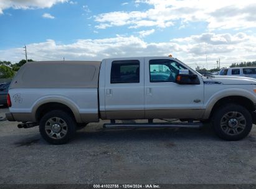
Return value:
M 53 129 L 52 125 L 57 123 L 56 118 L 59 118 L 60 132 L 55 133 L 55 132 L 52 132 L 51 129 Z M 54 122 L 54 120 L 56 121 Z M 62 128 L 62 125 L 64 125 L 63 128 Z M 48 130 L 47 129 L 48 127 L 50 127 L 51 129 Z M 75 133 L 75 128 L 76 128 L 76 122 L 73 119 L 73 117 L 69 113 L 66 113 L 65 111 L 62 111 L 62 110 L 53 110 L 53 111 L 50 111 L 49 113 L 46 113 L 42 117 L 42 119 L 40 119 L 40 123 L 39 123 L 39 131 L 41 136 L 45 141 L 49 142 L 50 144 L 66 144 L 67 142 L 69 142 L 69 140 L 72 138 L 73 134 Z M 65 134 L 62 134 L 62 132 L 64 132 Z M 51 133 L 54 133 L 52 137 L 50 137 Z M 60 134 L 62 134 L 62 136 L 60 136 Z M 59 135 L 62 138 L 58 139 L 57 135 Z

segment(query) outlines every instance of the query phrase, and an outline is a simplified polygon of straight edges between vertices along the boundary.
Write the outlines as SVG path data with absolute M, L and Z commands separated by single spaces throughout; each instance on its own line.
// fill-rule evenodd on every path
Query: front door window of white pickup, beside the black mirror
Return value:
M 150 82 L 175 82 L 179 70 L 186 69 L 169 59 L 149 60 Z

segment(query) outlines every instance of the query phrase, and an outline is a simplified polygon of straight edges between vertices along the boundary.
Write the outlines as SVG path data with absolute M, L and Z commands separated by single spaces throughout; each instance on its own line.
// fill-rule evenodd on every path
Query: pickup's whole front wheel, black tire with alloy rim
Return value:
M 226 141 L 244 139 L 252 129 L 252 115 L 239 104 L 225 104 L 216 109 L 212 126 L 217 136 Z

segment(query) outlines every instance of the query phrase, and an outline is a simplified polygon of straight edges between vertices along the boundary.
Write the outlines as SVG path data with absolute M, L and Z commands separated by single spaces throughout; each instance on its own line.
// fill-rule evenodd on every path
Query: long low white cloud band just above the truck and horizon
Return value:
M 216 66 L 220 58 L 222 67 L 231 63 L 255 60 L 256 36 L 244 33 L 206 33 L 172 39 L 169 42 L 145 42 L 140 37 L 116 35 L 107 39 L 79 39 L 72 44 L 57 44 L 54 40 L 28 44 L 28 57 L 33 60 L 102 60 L 110 57 L 168 56 L 170 53 L 187 65 L 206 67 L 207 42 L 208 68 Z M 0 60 L 18 62 L 24 56 L 22 48 L 0 50 Z M 11 58 L 11 59 L 10 59 Z

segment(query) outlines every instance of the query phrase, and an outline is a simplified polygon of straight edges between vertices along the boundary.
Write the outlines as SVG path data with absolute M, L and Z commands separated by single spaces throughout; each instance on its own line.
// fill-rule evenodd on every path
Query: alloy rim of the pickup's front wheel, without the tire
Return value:
M 228 135 L 240 134 L 241 132 L 244 131 L 245 126 L 246 126 L 245 117 L 237 111 L 226 113 L 220 119 L 220 127 L 222 131 L 224 131 L 225 134 L 228 134 Z

